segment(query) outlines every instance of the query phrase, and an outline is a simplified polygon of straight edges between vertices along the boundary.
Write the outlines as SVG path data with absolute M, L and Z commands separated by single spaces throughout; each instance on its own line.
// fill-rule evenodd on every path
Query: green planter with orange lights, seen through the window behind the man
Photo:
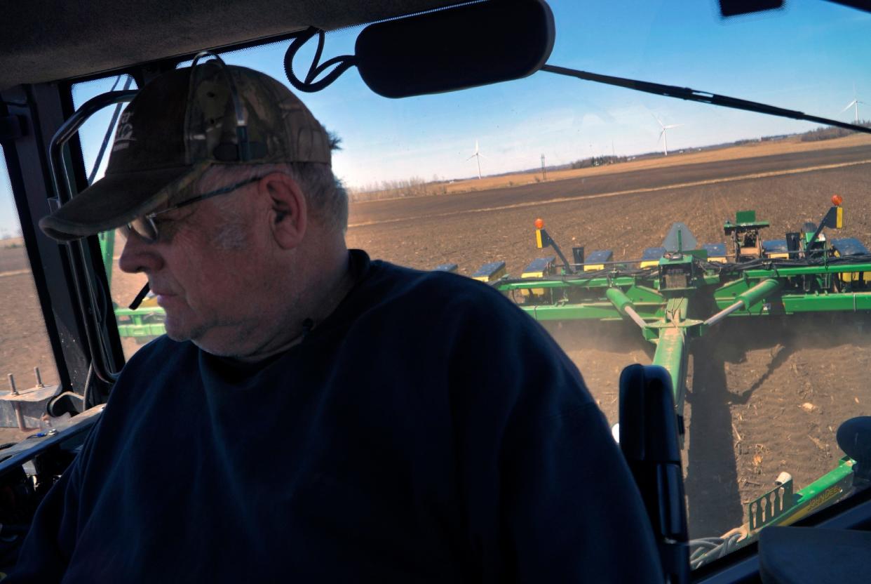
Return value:
M 653 364 L 672 377 L 675 414 L 683 439 L 688 344 L 727 318 L 871 310 L 871 254 L 854 238 L 827 239 L 826 228 L 842 226 L 841 197 L 832 198 L 819 225 L 807 223 L 782 240 L 763 240 L 767 221 L 739 211 L 726 221 L 726 243 L 699 245 L 683 223 L 672 225 L 658 248 L 633 261 L 614 261 L 610 250 L 589 254 L 572 248 L 568 261 L 557 242 L 536 221 L 538 248 L 554 255 L 537 258 L 520 277 L 504 264 L 476 272 L 540 321 L 626 320 L 656 345 Z M 558 260 L 557 260 L 558 258 Z M 832 505 L 864 479 L 855 461 L 842 458 L 834 470 L 798 491 L 787 473 L 776 486 L 746 504 L 746 523 L 719 538 L 693 540 L 693 567 L 743 547 L 770 525 L 789 525 Z

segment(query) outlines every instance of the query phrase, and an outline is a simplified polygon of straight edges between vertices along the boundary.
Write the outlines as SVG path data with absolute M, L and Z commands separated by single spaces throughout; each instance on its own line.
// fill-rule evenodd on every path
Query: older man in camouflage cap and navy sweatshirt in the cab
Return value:
M 125 365 L 10 582 L 661 581 L 577 368 L 463 276 L 345 247 L 331 139 L 219 60 L 127 107 L 45 217 L 125 227 L 167 334 Z

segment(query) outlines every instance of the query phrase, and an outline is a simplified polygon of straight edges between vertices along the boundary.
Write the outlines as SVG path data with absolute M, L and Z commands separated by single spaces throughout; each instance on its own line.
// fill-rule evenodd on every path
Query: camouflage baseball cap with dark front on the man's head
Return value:
M 97 234 L 192 196 L 209 166 L 271 162 L 330 164 L 327 132 L 287 87 L 218 60 L 170 71 L 122 113 L 105 176 L 39 227 L 59 241 Z

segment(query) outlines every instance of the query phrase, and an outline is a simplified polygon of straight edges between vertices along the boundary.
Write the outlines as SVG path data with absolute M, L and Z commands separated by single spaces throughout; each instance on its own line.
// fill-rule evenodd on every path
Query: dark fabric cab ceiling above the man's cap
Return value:
M 332 31 L 457 0 L 44 0 L 3 10 L 0 91 L 79 78 L 163 58 Z

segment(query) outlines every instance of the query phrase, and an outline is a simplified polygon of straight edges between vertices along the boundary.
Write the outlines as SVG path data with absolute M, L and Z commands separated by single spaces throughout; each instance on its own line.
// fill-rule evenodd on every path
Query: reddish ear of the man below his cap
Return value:
M 299 246 L 308 223 L 306 197 L 300 186 L 285 173 L 269 173 L 260 179 L 257 189 L 267 202 L 269 228 L 280 248 Z

